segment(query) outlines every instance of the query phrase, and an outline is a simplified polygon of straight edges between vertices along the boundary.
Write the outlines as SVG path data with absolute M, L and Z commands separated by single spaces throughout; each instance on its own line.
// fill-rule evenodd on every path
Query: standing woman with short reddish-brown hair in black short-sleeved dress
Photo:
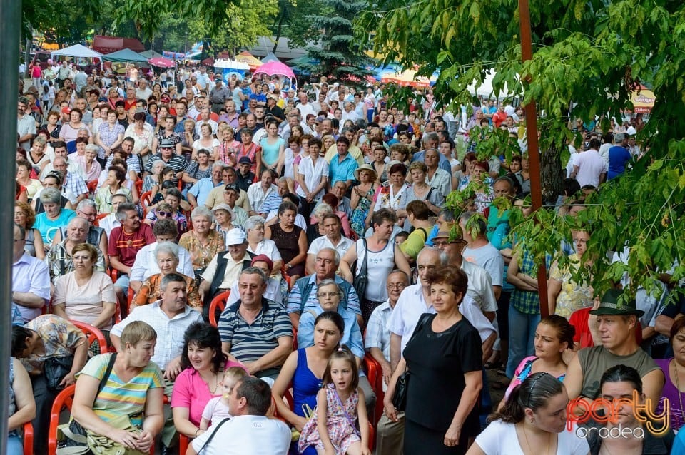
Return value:
M 478 331 L 459 311 L 467 277 L 454 267 L 437 267 L 427 281 L 437 315 L 419 319 L 390 379 L 385 413 L 397 421 L 392 397 L 397 377 L 409 369 L 405 455 L 465 454 L 467 440 L 480 432 L 476 402 L 483 367 Z

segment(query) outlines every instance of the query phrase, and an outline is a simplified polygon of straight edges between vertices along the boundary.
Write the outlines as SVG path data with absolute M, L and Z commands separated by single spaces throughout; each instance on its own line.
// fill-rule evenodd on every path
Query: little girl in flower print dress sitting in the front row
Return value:
M 314 446 L 318 454 L 370 455 L 364 392 L 355 356 L 346 346 L 330 356 L 323 384 L 316 397 L 316 413 L 300 434 L 298 450 Z

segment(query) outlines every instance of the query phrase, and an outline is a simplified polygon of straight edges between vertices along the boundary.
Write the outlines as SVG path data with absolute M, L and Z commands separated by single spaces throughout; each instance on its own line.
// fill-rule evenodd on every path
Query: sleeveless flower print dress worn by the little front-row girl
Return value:
M 347 449 L 356 441 L 361 441 L 357 430 L 357 402 L 359 394 L 355 390 L 345 400 L 345 409 L 338 397 L 338 391 L 333 384 L 325 386 L 326 404 L 328 405 L 328 417 L 326 428 L 328 429 L 328 439 L 335 448 L 335 455 L 345 455 Z M 305 424 L 300 434 L 298 451 L 304 451 L 308 446 L 315 446 L 318 450 L 323 450 L 323 442 L 319 436 L 316 426 L 316 412 L 310 421 Z

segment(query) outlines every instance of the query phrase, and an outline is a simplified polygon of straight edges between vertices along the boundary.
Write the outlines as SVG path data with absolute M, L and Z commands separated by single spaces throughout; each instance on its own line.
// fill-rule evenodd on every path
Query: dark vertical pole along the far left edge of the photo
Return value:
M 2 154 L 0 166 L 0 454 L 7 453 L 7 421 L 9 419 L 9 359 L 11 355 L 11 292 L 12 292 L 12 248 L 14 245 L 14 166 L 16 149 L 16 100 L 19 71 L 19 35 L 21 34 L 21 0 L 0 0 L 0 17 L 4 26 L 0 27 L 0 76 L 4 80 L 4 90 L 0 91 L 0 146 Z M 23 77 L 23 76 L 22 76 Z M 2 177 L 4 175 L 4 177 Z M 4 296 L 4 297 L 2 297 Z

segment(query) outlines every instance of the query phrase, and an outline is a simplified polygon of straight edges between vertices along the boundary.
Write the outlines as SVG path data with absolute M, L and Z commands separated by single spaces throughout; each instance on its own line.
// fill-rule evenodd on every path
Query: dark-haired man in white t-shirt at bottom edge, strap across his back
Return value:
M 262 379 L 244 377 L 230 389 L 225 419 L 198 436 L 188 446 L 187 455 L 286 455 L 290 429 L 278 419 L 266 416 L 271 405 L 271 389 Z

